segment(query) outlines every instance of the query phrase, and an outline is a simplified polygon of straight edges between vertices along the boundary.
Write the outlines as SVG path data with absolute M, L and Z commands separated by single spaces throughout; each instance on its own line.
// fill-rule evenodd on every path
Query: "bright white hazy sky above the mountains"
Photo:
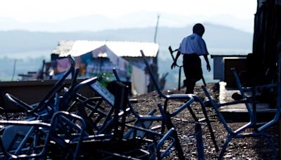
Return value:
M 58 22 L 86 15 L 104 15 L 117 18 L 129 13 L 148 11 L 190 17 L 223 15 L 218 21 L 231 22 L 232 18 L 242 20 L 244 26 L 253 26 L 256 0 L 5 0 L 0 1 L 0 18 L 20 22 Z M 230 18 L 227 19 L 228 15 Z M 164 18 L 164 15 L 163 17 Z M 169 17 L 171 18 L 171 17 Z M 243 21 L 244 20 L 244 21 Z M 181 20 L 178 20 L 181 21 Z M 246 24 L 245 24 L 246 23 Z M 249 24 L 247 24 L 249 23 Z M 243 26 L 242 26 L 243 27 Z

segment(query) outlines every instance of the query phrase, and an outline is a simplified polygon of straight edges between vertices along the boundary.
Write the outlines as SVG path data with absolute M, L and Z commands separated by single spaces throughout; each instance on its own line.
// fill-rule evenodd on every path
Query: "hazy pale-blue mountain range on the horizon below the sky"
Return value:
M 205 25 L 203 36 L 210 53 L 225 51 L 250 51 L 252 34 L 238 29 L 221 25 Z M 159 27 L 157 43 L 166 46 L 175 46 L 184 36 L 192 33 L 192 26 L 186 27 Z M 153 41 L 155 27 L 108 29 L 99 32 L 28 32 L 24 30 L 0 31 L 0 54 L 51 50 L 60 40 L 101 40 L 101 41 Z M 225 52 L 224 51 L 224 52 Z

